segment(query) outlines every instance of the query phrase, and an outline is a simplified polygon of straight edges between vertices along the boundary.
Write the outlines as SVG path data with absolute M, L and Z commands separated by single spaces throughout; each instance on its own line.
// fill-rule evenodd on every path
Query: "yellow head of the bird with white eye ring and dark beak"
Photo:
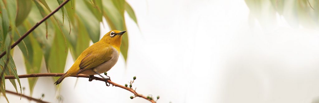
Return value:
M 106 33 L 100 41 L 120 47 L 121 41 L 122 41 L 122 35 L 125 32 L 126 31 L 111 30 L 108 33 Z

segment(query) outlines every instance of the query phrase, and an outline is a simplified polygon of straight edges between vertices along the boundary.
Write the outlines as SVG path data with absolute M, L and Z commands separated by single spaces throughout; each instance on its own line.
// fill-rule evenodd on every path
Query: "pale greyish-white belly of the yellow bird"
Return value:
M 113 57 L 112 59 L 96 66 L 95 68 L 93 68 L 92 70 L 95 70 L 96 72 L 98 72 L 99 74 L 107 72 L 108 70 L 110 70 L 117 62 L 118 58 L 119 58 L 119 53 L 115 50 L 116 53 L 113 53 Z M 86 74 L 86 75 L 95 75 L 96 73 L 94 73 L 91 69 L 89 70 L 85 70 L 80 74 Z

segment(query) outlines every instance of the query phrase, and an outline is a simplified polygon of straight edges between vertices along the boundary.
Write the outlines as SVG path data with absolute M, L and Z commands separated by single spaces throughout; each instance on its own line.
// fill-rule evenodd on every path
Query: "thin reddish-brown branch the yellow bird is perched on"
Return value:
M 62 76 L 64 73 L 38 73 L 38 74 L 24 74 L 24 75 L 19 75 L 19 78 L 30 78 L 30 77 L 43 77 L 43 76 L 55 76 L 55 77 L 58 77 L 58 76 Z M 73 77 L 82 77 L 82 78 L 89 78 L 90 76 L 89 75 L 85 75 L 85 74 L 78 74 L 77 76 L 73 76 Z M 16 79 L 13 75 L 8 75 L 8 76 L 5 76 L 4 77 L 5 79 Z M 104 81 L 103 78 L 99 78 L 99 77 L 92 77 L 92 79 L 94 80 L 100 80 L 100 81 Z M 137 97 L 141 97 L 141 98 L 144 98 L 146 100 L 149 100 L 150 102 L 152 103 L 156 103 L 154 100 L 150 100 L 150 99 L 147 99 L 147 97 L 143 96 L 142 94 L 139 94 L 139 93 L 136 93 L 134 89 L 132 88 L 129 88 L 129 87 L 125 87 L 125 86 L 122 86 L 122 85 L 119 85 L 119 84 L 116 84 L 115 82 L 111 81 L 111 80 L 108 80 L 107 81 L 108 83 L 112 84 L 113 86 L 115 87 L 120 87 L 120 88 L 123 88 L 123 89 L 126 89 L 132 93 L 134 93 L 135 96 Z

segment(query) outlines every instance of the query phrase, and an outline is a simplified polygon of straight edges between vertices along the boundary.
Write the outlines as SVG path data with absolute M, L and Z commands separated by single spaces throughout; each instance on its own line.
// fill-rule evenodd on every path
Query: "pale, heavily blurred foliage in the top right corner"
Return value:
M 245 0 L 250 17 L 256 18 L 262 26 L 276 23 L 276 15 L 285 18 L 294 27 L 319 27 L 318 0 Z M 254 20 L 254 19 L 250 19 Z

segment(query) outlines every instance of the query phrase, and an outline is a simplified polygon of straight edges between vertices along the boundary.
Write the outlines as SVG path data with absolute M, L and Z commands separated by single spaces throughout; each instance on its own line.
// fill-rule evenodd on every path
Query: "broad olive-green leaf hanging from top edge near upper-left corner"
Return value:
M 17 17 L 16 17 L 16 26 L 18 27 L 29 15 L 32 7 L 31 0 L 17 0 Z

